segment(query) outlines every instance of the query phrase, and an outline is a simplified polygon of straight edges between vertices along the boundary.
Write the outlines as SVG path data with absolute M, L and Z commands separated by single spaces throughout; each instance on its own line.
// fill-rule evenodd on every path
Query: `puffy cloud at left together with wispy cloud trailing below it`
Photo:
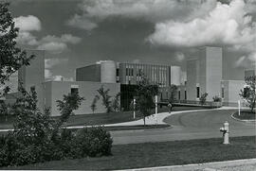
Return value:
M 20 27 L 17 43 L 32 46 L 33 48 L 46 50 L 52 54 L 60 54 L 68 49 L 68 44 L 77 44 L 81 38 L 71 34 L 63 34 L 60 37 L 46 35 L 38 39 L 31 32 L 41 30 L 41 21 L 32 15 L 20 16 L 14 19 L 15 25 Z

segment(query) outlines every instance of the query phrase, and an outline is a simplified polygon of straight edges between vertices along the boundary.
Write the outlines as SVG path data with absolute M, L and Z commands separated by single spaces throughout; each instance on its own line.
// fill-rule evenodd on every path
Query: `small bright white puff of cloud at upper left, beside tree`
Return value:
M 33 16 L 20 16 L 14 18 L 15 26 L 20 28 L 20 31 L 40 31 L 41 30 L 41 22 L 40 20 Z

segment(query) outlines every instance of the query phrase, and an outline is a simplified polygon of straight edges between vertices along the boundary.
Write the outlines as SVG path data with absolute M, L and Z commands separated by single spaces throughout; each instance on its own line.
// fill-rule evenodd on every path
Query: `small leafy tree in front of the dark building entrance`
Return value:
M 153 85 L 145 76 L 141 78 L 138 83 L 137 96 L 137 110 L 143 115 L 144 126 L 146 125 L 146 116 L 151 114 L 152 108 L 155 107 L 154 96 L 158 94 L 158 85 Z

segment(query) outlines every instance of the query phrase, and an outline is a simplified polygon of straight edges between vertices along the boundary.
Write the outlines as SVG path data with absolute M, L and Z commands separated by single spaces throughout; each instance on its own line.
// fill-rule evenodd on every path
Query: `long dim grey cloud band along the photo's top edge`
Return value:
M 204 15 L 214 8 L 215 3 L 215 0 L 83 0 L 79 4 L 82 14 L 75 14 L 67 25 L 91 30 L 98 27 L 102 20 L 113 16 L 152 23 L 169 19 L 186 20 L 191 16 Z

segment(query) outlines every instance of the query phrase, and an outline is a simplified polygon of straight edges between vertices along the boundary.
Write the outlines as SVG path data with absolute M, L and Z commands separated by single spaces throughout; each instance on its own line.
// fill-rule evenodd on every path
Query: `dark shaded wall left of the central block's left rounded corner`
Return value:
M 77 68 L 76 81 L 101 82 L 101 64 L 93 64 Z

